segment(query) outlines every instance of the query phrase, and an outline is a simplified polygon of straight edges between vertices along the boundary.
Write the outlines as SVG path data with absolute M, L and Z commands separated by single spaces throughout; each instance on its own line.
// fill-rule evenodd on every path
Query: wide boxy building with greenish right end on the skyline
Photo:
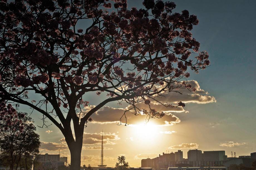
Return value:
M 225 151 L 204 151 L 203 153 L 204 161 L 226 161 L 227 156 Z

